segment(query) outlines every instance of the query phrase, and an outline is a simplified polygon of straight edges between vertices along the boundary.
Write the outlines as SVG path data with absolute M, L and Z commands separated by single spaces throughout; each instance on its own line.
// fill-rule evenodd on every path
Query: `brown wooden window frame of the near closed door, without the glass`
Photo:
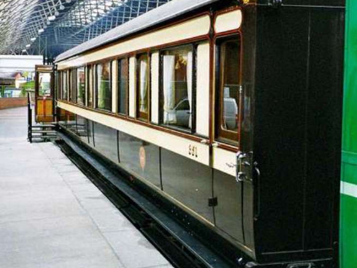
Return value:
M 238 94 L 239 94 L 239 99 L 238 99 L 238 114 L 237 114 L 237 125 L 238 129 L 237 132 L 231 131 L 231 130 L 226 130 L 224 129 L 223 126 L 223 106 L 224 106 L 224 100 L 223 100 L 223 87 L 222 87 L 222 62 L 221 62 L 221 44 L 230 41 L 230 40 L 238 40 L 239 43 L 239 61 L 238 61 Z M 224 68 L 224 67 L 223 67 Z M 242 105 L 242 92 L 241 92 L 241 87 L 242 87 L 242 37 L 240 33 L 235 33 L 232 35 L 225 35 L 225 36 L 220 36 L 215 39 L 215 71 L 214 71 L 214 78 L 215 78 L 215 107 L 214 107 L 214 139 L 231 144 L 234 146 L 240 145 L 240 124 L 241 124 L 241 105 Z

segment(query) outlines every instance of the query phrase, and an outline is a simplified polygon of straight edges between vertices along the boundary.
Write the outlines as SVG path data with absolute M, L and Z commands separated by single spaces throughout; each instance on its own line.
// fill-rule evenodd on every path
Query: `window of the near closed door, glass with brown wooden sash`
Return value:
M 239 38 L 225 39 L 217 44 L 218 70 L 218 138 L 238 142 L 238 111 L 239 111 L 239 73 L 240 73 L 240 42 Z

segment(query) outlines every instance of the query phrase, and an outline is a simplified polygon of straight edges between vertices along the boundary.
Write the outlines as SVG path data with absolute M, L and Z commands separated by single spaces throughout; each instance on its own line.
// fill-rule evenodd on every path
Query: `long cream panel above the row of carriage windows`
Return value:
M 167 28 L 120 42 L 110 47 L 105 47 L 92 53 L 59 62 L 58 69 L 61 70 L 67 67 L 85 65 L 89 62 L 99 61 L 105 58 L 114 57 L 116 55 L 127 54 L 132 51 L 174 43 L 197 36 L 203 36 L 209 33 L 210 24 L 209 15 L 199 16 Z

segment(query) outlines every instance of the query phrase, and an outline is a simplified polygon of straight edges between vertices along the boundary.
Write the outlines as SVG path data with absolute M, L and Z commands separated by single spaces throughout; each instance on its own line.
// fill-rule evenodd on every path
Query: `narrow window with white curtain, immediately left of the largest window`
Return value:
M 137 93 L 136 111 L 137 118 L 148 119 L 148 88 L 149 88 L 149 61 L 147 54 L 137 59 Z

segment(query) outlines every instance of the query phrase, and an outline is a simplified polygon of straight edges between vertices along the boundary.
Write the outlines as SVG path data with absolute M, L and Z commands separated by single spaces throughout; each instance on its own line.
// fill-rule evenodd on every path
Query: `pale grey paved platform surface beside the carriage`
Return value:
M 51 142 L 26 141 L 26 108 L 0 110 L 0 268 L 169 268 Z

